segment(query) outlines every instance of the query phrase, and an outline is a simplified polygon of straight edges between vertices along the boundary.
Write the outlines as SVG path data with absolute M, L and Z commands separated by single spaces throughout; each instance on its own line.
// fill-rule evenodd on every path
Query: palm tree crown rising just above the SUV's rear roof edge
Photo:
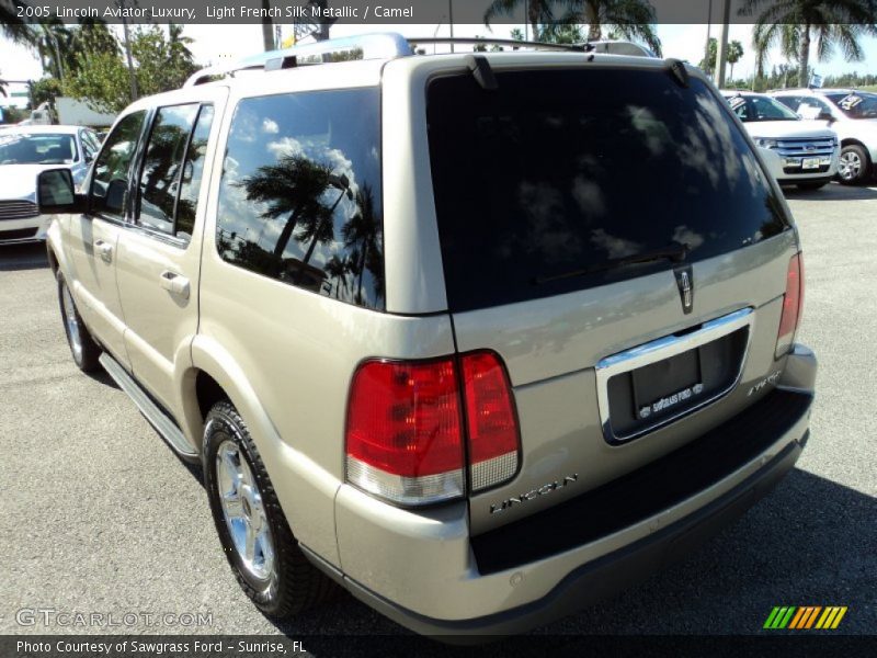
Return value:
M 631 41 L 642 41 L 661 56 L 661 39 L 654 32 L 654 8 L 646 0 L 569 0 L 571 11 L 588 23 L 588 41 L 603 38 L 603 27 Z

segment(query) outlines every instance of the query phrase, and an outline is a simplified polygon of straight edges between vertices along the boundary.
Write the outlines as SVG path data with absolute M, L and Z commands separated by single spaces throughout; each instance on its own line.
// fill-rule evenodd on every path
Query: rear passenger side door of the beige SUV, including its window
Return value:
M 203 195 L 226 90 L 159 106 L 136 181 L 134 222 L 119 236 L 125 344 L 137 379 L 171 411 L 174 375 L 197 331 Z

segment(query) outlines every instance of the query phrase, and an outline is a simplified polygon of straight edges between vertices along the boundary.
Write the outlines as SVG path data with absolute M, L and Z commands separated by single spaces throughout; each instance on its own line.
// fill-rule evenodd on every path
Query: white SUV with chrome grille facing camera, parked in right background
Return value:
M 763 93 L 722 91 L 781 185 L 818 190 L 838 173 L 838 135 Z

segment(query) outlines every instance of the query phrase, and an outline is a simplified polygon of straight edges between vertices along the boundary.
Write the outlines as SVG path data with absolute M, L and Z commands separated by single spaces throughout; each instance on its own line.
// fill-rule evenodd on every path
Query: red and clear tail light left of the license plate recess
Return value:
M 517 472 L 511 387 L 491 352 L 365 362 L 351 383 L 345 440 L 348 481 L 406 506 L 462 497 L 467 463 L 475 491 Z

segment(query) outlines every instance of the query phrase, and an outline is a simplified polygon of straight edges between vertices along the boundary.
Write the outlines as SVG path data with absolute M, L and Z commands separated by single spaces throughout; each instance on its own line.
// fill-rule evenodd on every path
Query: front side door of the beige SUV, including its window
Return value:
M 100 342 L 128 367 L 116 284 L 116 247 L 119 231 L 130 220 L 129 186 L 146 115 L 139 110 L 118 121 L 86 182 L 89 211 L 71 215 L 64 224 L 73 277 L 68 283 L 80 314 Z

